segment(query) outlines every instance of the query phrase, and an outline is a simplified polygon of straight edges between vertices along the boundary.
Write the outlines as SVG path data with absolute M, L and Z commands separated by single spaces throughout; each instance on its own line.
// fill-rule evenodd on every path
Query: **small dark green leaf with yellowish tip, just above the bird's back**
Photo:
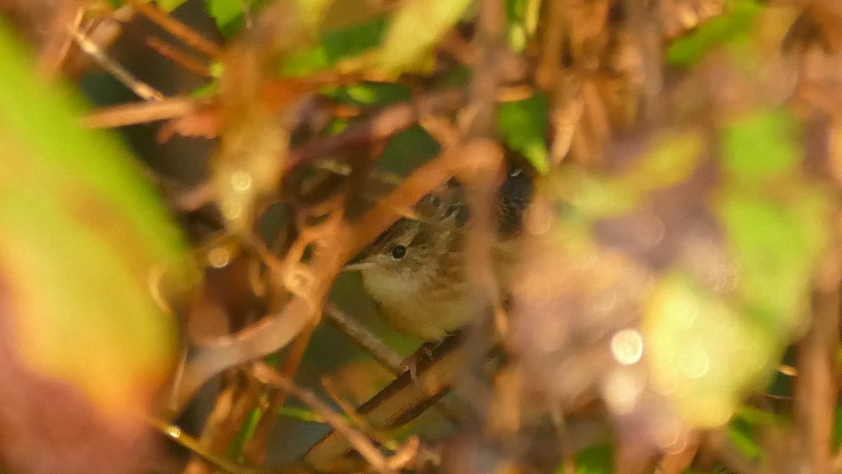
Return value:
M 497 116 L 504 143 L 522 154 L 541 174 L 550 168 L 545 139 L 548 113 L 546 94 L 536 94 L 526 100 L 500 104 Z

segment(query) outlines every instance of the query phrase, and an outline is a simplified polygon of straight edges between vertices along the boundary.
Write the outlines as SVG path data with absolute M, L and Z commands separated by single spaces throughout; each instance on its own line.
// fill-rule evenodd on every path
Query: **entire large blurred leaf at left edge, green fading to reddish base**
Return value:
M 195 277 L 186 245 L 131 155 L 78 127 L 82 101 L 41 83 L 3 24 L 0 87 L 0 464 L 128 470 L 173 367 L 159 299 Z

